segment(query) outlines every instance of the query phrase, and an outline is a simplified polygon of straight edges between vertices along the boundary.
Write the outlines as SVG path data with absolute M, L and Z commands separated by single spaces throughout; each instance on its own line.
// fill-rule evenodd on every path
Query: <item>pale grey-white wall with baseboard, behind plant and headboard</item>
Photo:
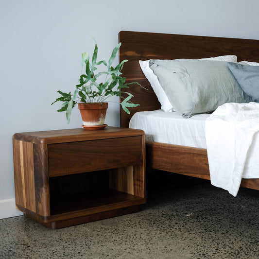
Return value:
M 81 53 L 108 59 L 121 30 L 259 39 L 258 0 L 0 0 L 0 218 L 14 207 L 12 135 L 80 127 L 51 106 L 78 83 Z M 173 47 L 173 46 L 172 46 Z M 119 126 L 119 104 L 106 123 Z

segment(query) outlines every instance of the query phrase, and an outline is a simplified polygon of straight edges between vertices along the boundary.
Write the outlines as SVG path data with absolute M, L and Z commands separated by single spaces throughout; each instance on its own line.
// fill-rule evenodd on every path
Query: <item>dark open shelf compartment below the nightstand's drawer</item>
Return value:
M 133 167 L 50 177 L 51 220 L 136 206 Z M 136 191 L 135 191 L 136 192 Z

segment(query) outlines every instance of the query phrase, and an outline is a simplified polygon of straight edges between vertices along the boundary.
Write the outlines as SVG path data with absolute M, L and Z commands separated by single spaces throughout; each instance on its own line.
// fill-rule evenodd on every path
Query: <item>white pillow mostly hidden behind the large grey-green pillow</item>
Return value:
M 218 61 L 227 61 L 227 62 L 237 62 L 237 56 L 235 55 L 226 55 L 226 56 L 219 56 L 219 57 L 210 57 L 210 58 L 202 58 L 205 60 L 218 60 Z M 157 59 L 159 60 L 159 59 Z M 139 60 L 140 68 L 142 69 L 145 77 L 149 81 L 150 85 L 152 86 L 155 95 L 161 104 L 161 109 L 164 111 L 175 111 L 172 104 L 169 102 L 168 97 L 165 94 L 164 89 L 160 86 L 157 76 L 154 74 L 153 70 L 149 67 L 149 60 Z

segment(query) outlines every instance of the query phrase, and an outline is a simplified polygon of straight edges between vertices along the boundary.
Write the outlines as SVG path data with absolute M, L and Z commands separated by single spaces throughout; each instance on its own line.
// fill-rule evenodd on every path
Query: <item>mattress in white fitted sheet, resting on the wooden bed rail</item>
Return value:
M 137 112 L 129 128 L 141 129 L 147 141 L 181 146 L 207 148 L 205 120 L 210 114 L 198 114 L 188 119 L 178 112 L 163 110 Z M 259 133 L 254 136 L 248 151 L 242 178 L 259 178 Z

